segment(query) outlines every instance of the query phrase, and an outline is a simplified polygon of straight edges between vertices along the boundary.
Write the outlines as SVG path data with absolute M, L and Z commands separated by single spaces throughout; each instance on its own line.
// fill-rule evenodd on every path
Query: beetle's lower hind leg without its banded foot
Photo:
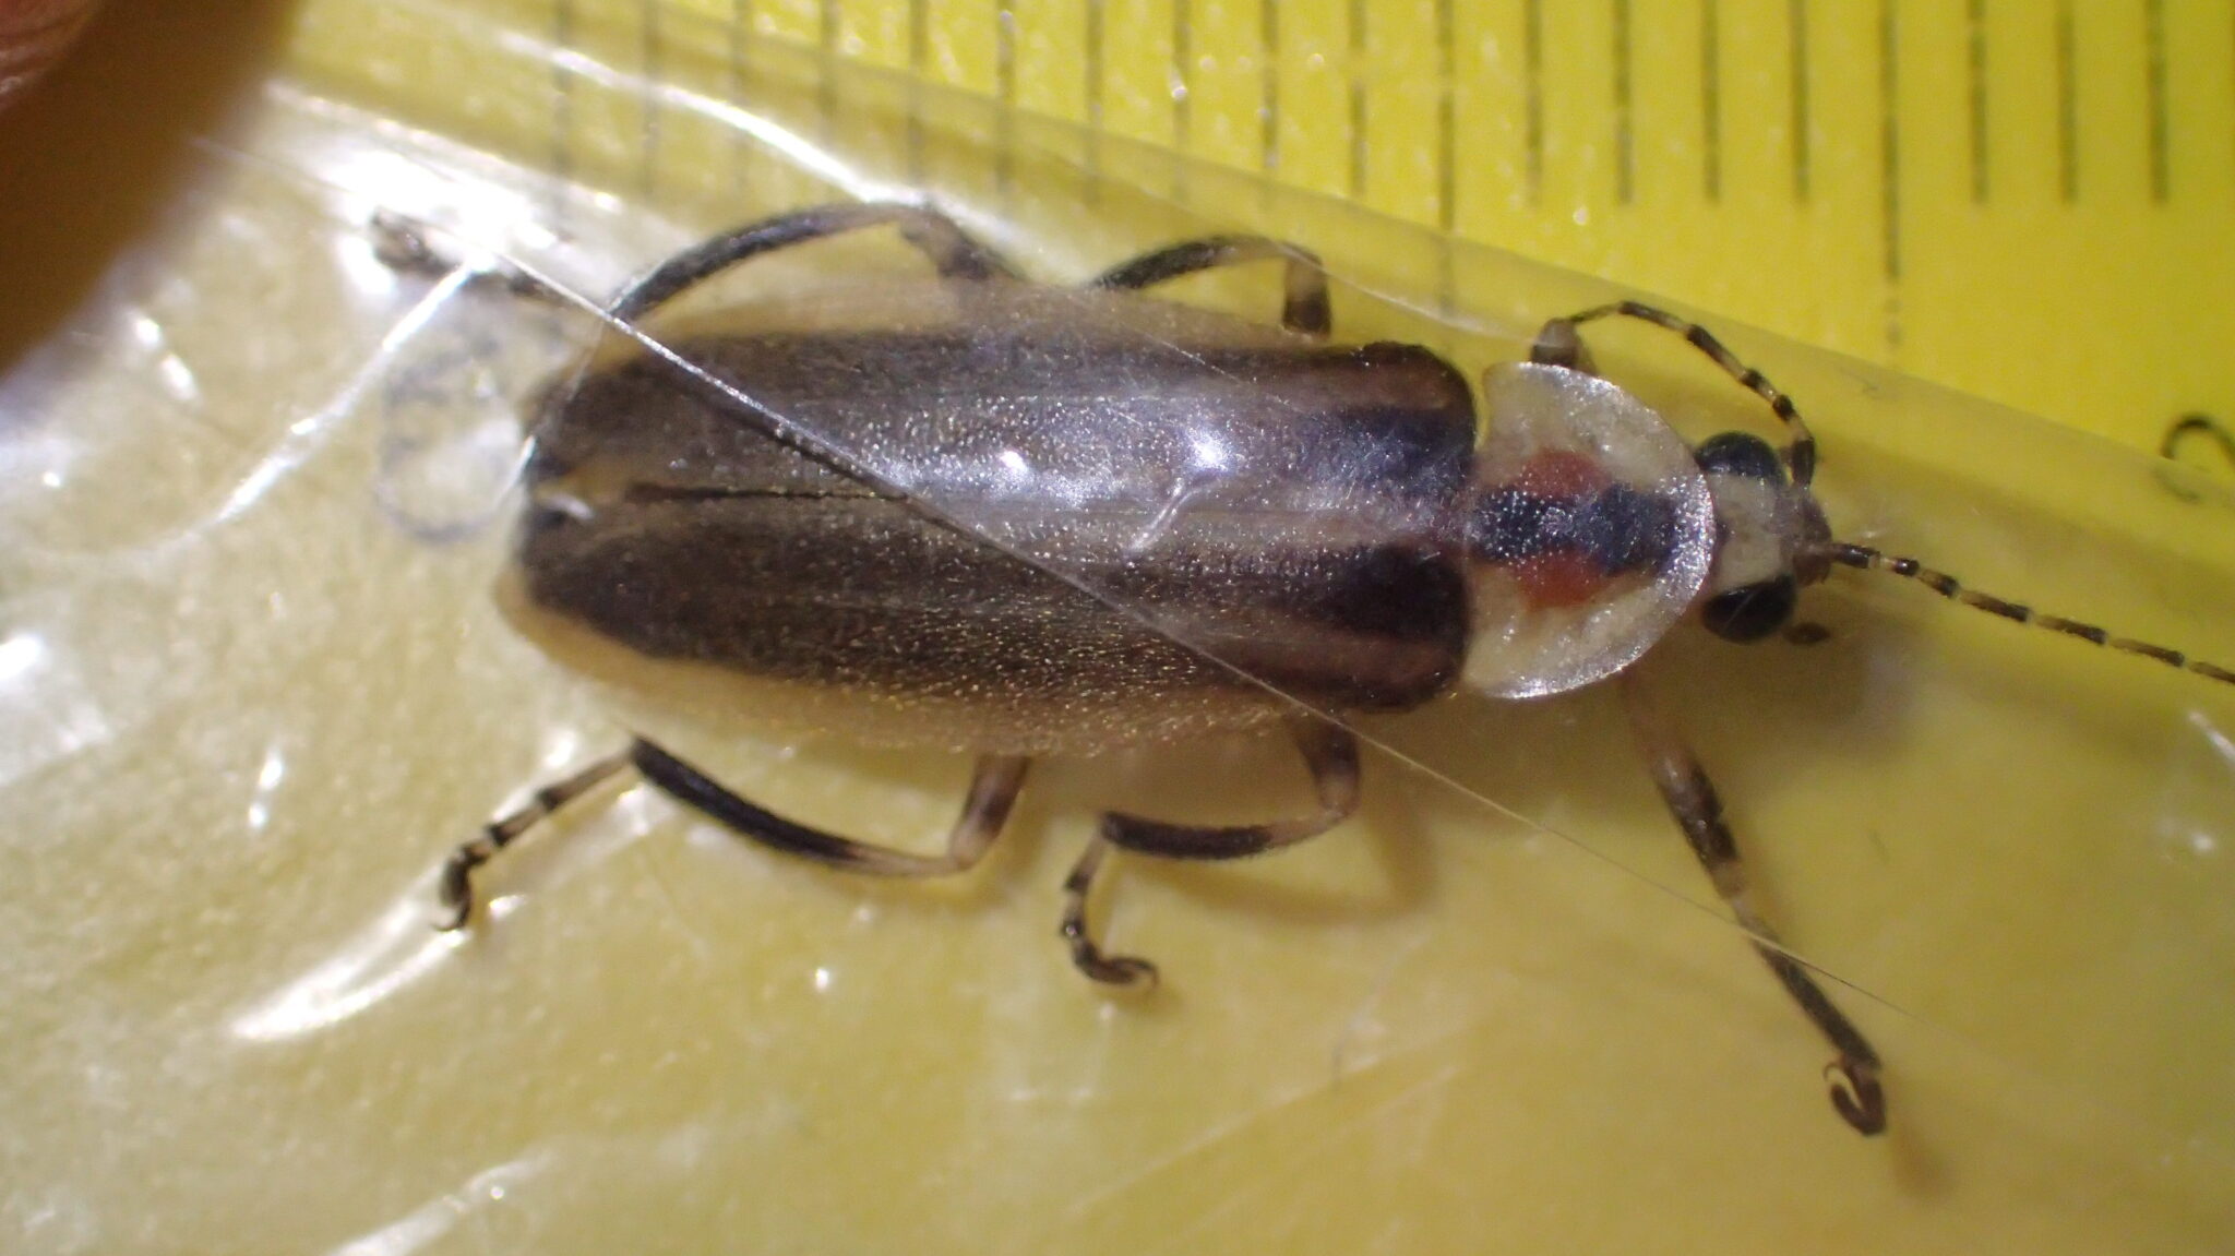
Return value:
M 776 847 L 784 854 L 811 858 L 845 872 L 865 872 L 869 876 L 943 876 L 974 865 L 986 854 L 986 847 L 992 845 L 995 836 L 1001 834 L 1001 825 L 1008 820 L 1008 811 L 1017 802 L 1017 791 L 1024 789 L 1024 769 L 1033 762 L 1019 755 L 979 758 L 977 776 L 970 778 L 970 793 L 963 796 L 963 813 L 954 820 L 954 829 L 948 834 L 948 854 L 921 856 L 856 843 L 852 838 L 840 838 L 784 820 L 782 816 L 738 798 L 700 769 L 686 764 L 653 742 L 646 742 L 644 738 L 637 738 L 637 742 L 628 749 L 628 758 L 637 764 L 637 771 L 644 773 L 644 780 L 659 787 L 662 793 L 717 820 L 738 836 Z

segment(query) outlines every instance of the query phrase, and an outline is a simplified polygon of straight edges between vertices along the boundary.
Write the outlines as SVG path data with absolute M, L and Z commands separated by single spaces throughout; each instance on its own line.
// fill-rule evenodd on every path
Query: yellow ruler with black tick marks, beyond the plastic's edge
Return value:
M 820 47 L 2146 447 L 2235 413 L 2235 0 L 458 4 L 655 80 L 682 25 Z M 308 0 L 297 56 L 451 110 L 405 27 Z

